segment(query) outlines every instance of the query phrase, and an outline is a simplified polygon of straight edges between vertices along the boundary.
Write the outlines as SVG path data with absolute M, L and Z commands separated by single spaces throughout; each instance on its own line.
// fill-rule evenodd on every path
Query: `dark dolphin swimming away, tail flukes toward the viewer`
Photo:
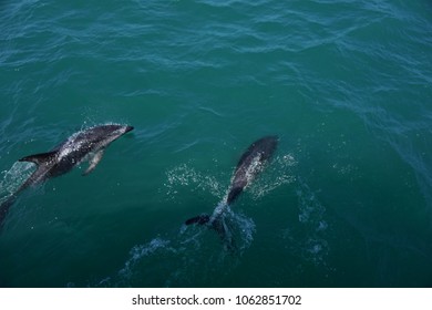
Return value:
M 233 239 L 229 229 L 223 219 L 223 215 L 225 210 L 238 198 L 243 190 L 250 184 L 250 182 L 263 170 L 266 162 L 268 162 L 268 159 L 275 153 L 277 144 L 277 136 L 265 136 L 254 142 L 238 161 L 227 195 L 217 205 L 213 214 L 198 215 L 187 219 L 185 224 L 206 225 L 215 229 L 219 234 L 223 241 L 228 246 L 228 248 L 232 248 Z

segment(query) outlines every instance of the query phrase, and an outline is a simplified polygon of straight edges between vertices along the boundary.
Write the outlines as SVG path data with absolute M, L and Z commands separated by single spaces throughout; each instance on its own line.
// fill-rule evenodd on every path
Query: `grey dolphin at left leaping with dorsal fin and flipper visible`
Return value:
M 19 193 L 49 178 L 63 175 L 86 159 L 90 164 L 83 175 L 88 175 L 102 159 L 105 147 L 132 130 L 133 127 L 127 125 L 93 126 L 73 134 L 51 152 L 34 154 L 19 159 L 19 162 L 34 163 L 37 169 L 16 193 L 0 205 L 0 227 Z

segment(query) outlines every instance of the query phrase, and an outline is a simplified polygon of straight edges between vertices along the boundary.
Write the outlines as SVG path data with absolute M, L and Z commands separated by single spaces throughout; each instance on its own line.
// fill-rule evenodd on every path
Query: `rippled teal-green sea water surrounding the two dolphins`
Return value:
M 432 2 L 0 2 L 0 287 L 432 287 Z M 254 141 L 279 137 L 205 226 Z

